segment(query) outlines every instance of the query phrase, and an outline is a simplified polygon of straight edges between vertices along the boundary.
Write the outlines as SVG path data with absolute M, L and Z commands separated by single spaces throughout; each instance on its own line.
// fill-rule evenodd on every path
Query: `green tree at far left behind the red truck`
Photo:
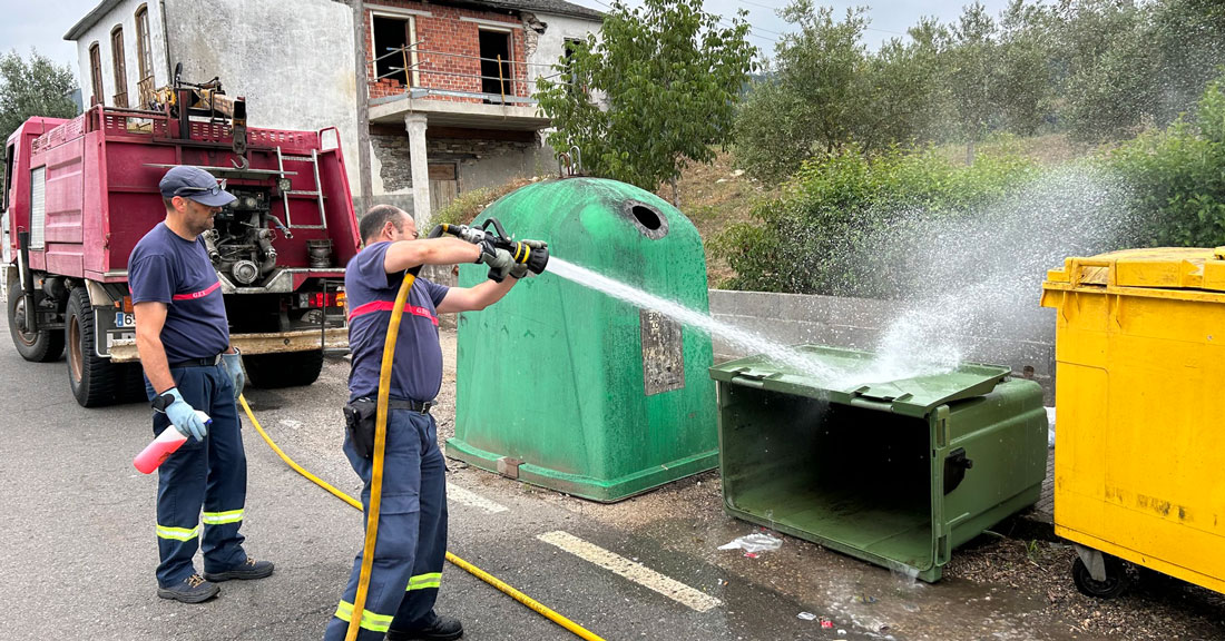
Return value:
M 31 116 L 72 117 L 80 111 L 69 94 L 76 76 L 67 65 L 31 50 L 27 62 L 16 50 L 0 55 L 0 141 Z

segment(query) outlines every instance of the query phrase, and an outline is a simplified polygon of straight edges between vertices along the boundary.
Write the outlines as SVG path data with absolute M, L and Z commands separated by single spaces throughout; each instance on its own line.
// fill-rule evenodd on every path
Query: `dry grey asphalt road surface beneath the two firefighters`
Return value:
M 0 336 L 7 340 L 6 325 Z M 261 581 L 227 582 L 218 598 L 201 606 L 159 599 L 153 577 L 157 482 L 131 465 L 152 437 L 149 410 L 142 404 L 80 407 L 65 368 L 62 360 L 31 363 L 10 345 L 0 347 L 0 493 L 7 515 L 0 528 L 0 599 L 6 604 L 0 637 L 321 637 L 361 542 L 360 513 L 292 471 L 244 421 L 250 481 L 243 532 L 249 554 L 274 561 L 277 571 Z M 347 362 L 330 361 L 315 385 L 251 389 L 247 399 L 290 456 L 355 495 L 356 476 L 341 453 L 337 421 L 345 374 Z M 688 515 L 668 514 L 670 508 L 599 506 L 456 461 L 451 467 L 451 487 L 469 491 L 463 493 L 468 503 L 457 502 L 452 491 L 451 552 L 604 639 L 837 636 L 818 621 L 799 619 L 811 608 L 779 595 L 768 580 L 739 577 L 703 558 L 751 532 L 747 524 L 714 511 L 707 515 L 714 528 L 726 531 L 701 539 L 695 549 L 709 524 L 698 531 L 701 520 L 691 524 Z M 717 510 L 709 476 L 706 503 Z M 697 481 L 682 483 L 702 488 Z M 604 517 L 589 510 L 605 510 Z M 659 520 L 635 517 L 652 511 Z M 677 531 L 685 536 L 676 539 Z M 578 537 L 720 604 L 699 612 L 537 538 L 548 532 Z M 655 537 L 674 544 L 662 546 Z M 717 555 L 762 565 L 734 552 Z M 450 564 L 437 609 L 459 617 L 468 639 L 576 639 Z

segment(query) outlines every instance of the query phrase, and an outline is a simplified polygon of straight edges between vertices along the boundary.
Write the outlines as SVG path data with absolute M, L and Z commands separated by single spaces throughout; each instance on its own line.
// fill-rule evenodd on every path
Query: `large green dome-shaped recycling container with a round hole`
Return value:
M 458 319 L 447 456 L 614 502 L 718 465 L 710 336 L 550 272 L 562 261 L 708 312 L 702 240 L 676 208 L 610 180 L 540 182 L 478 218 L 549 242 L 549 270 Z M 459 285 L 486 276 L 461 265 Z

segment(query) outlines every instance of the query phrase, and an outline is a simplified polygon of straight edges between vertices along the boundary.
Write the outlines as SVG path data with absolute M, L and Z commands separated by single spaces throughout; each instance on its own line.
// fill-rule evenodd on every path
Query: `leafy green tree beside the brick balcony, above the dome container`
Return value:
M 687 161 L 709 163 L 730 142 L 735 104 L 756 69 L 741 11 L 731 26 L 701 0 L 621 2 L 600 38 L 573 43 L 535 98 L 552 119 L 555 149 L 577 146 L 589 172 L 654 191 Z M 594 97 L 603 94 L 606 109 Z

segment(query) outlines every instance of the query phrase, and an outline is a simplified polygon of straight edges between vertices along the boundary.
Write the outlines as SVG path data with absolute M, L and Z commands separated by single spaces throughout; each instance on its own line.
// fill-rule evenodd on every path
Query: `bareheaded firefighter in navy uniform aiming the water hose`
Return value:
M 379 542 L 358 635 L 370 641 L 383 639 L 385 632 L 388 641 L 459 639 L 461 623 L 434 612 L 447 549 L 446 462 L 430 415 L 442 387 L 437 314 L 484 309 L 527 275 L 527 268 L 516 265 L 506 250 L 491 243 L 473 245 L 454 237 L 417 240 L 413 218 L 390 206 L 371 208 L 361 218 L 360 232 L 365 248 L 349 262 L 344 275 L 353 354 L 350 411 L 374 411 L 387 325 L 405 269 L 475 262 L 488 264 L 491 276 L 501 278 L 474 287 L 446 287 L 418 278 L 409 291 L 392 366 Z M 512 278 L 502 278 L 506 275 Z M 372 431 L 366 432 L 368 437 L 355 443 L 350 429 L 344 453 L 365 483 L 361 503 L 369 509 L 374 461 Z M 360 574 L 359 552 L 325 640 L 345 637 Z

